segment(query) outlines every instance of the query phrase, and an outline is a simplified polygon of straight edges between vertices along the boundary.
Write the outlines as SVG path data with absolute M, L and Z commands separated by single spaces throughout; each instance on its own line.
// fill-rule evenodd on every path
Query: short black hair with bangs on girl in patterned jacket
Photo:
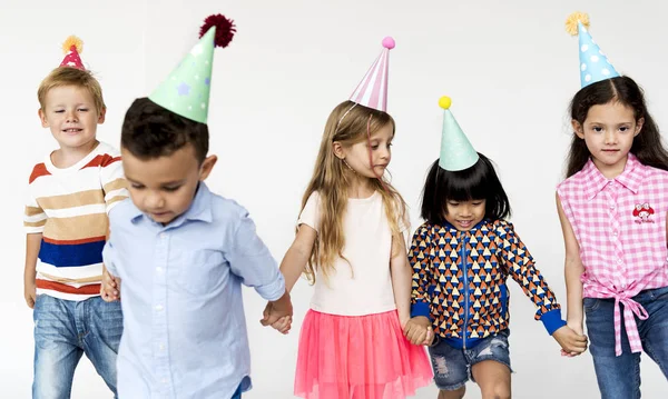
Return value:
M 443 225 L 448 201 L 481 199 L 487 202 L 485 219 L 510 217 L 510 201 L 492 161 L 480 152 L 478 154 L 478 162 L 464 170 L 444 170 L 438 159 L 432 163 L 422 190 L 422 219 L 432 225 Z

